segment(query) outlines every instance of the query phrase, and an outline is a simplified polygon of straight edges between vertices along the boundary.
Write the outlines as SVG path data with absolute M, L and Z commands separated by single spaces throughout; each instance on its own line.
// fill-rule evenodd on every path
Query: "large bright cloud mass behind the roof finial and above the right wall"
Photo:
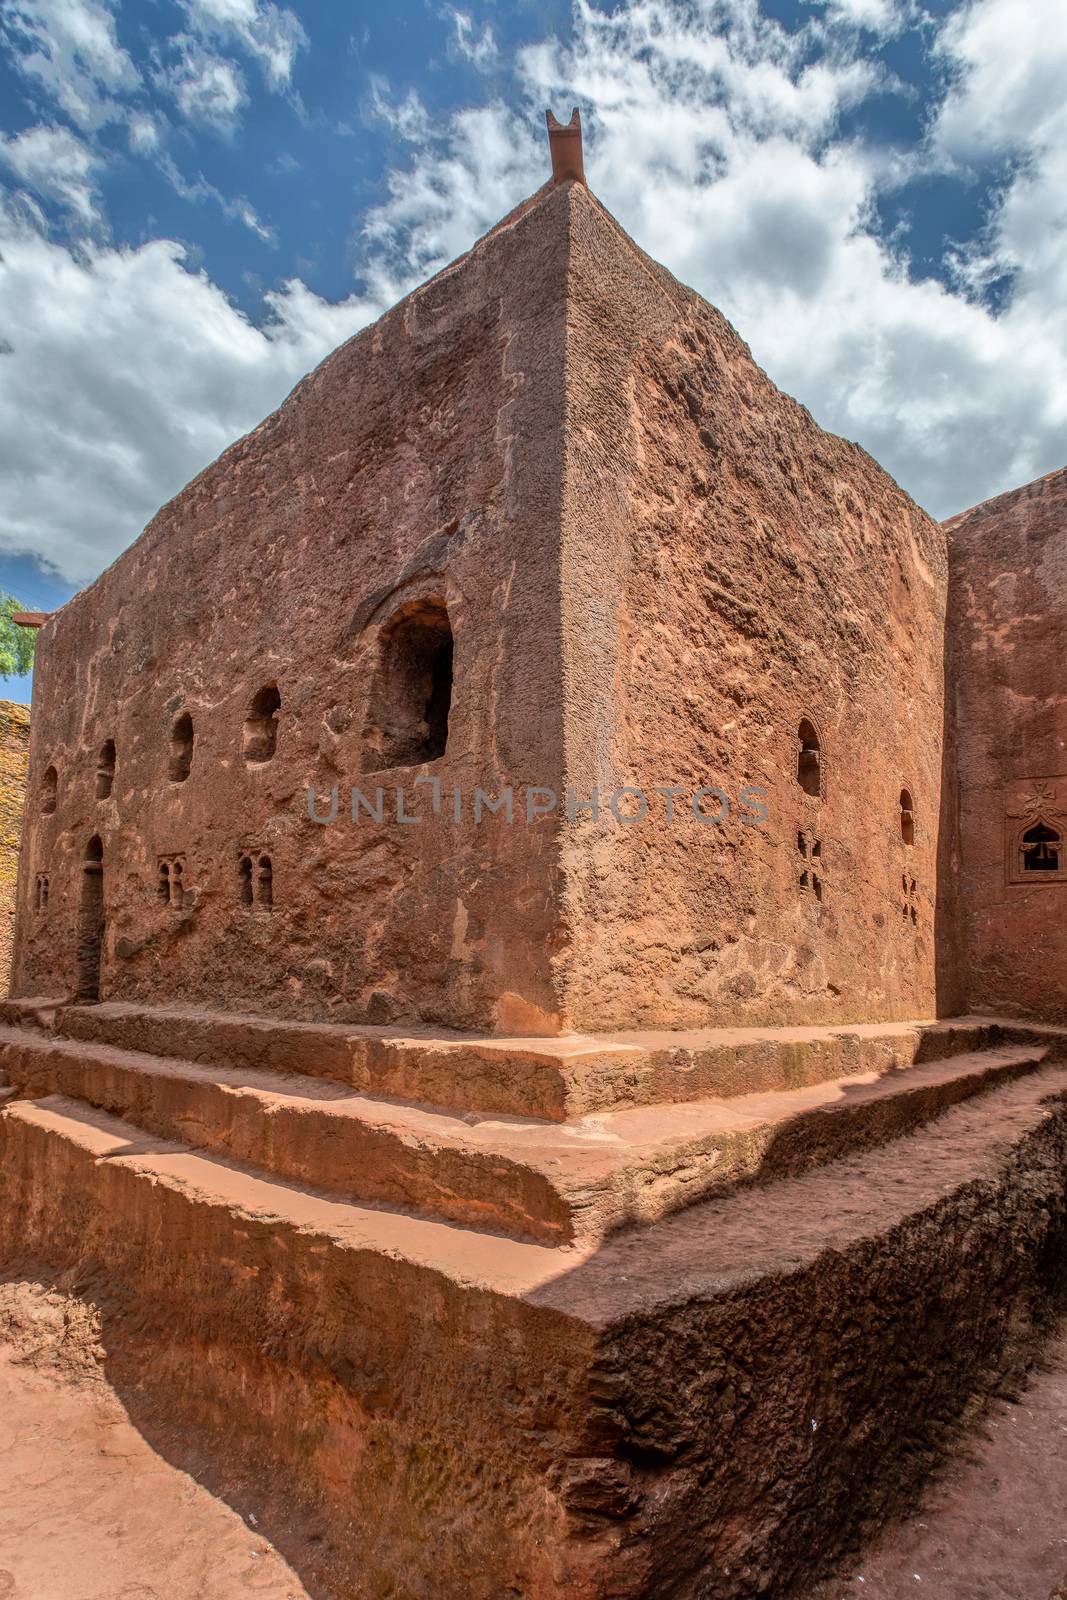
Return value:
M 1049 149 L 1013 182 L 957 293 L 913 277 L 878 234 L 880 189 L 920 158 L 909 168 L 840 133 L 843 112 L 893 86 L 856 32 L 894 21 L 869 0 L 792 34 L 755 0 L 579 0 L 569 45 L 522 53 L 518 109 L 462 110 L 424 131 L 366 219 L 368 248 L 397 285 L 458 254 L 544 179 L 541 107 L 577 102 L 590 184 L 637 242 L 720 306 L 825 427 L 949 515 L 1067 458 L 1067 155 L 1051 154 L 1067 136 L 1054 122 L 1062 66 L 1041 61 L 1051 35 L 1067 48 L 1061 3 L 1035 0 L 1013 35 L 1014 0 L 981 0 L 944 34 L 955 144 L 961 130 L 974 139 L 987 102 L 1001 142 L 1017 141 L 1029 104 L 1027 150 Z M 973 283 L 1005 264 L 1016 294 L 995 310 Z

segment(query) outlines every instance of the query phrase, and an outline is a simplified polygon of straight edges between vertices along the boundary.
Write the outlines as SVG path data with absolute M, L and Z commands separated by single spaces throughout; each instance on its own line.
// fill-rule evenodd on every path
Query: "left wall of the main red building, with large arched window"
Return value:
M 99 835 L 106 998 L 555 1026 L 550 827 L 474 827 L 469 800 L 454 826 L 411 782 L 470 797 L 501 774 L 558 781 L 565 219 L 561 190 L 520 208 L 336 350 L 42 629 L 18 994 L 75 987 Z M 454 634 L 446 752 L 365 773 L 381 630 L 427 598 Z M 248 763 L 245 720 L 270 683 L 277 754 Z M 173 782 L 182 712 L 194 758 Z M 50 765 L 58 806 L 42 814 Z M 352 784 L 378 782 L 384 822 L 354 827 Z M 398 782 L 421 824 L 395 821 Z M 307 784 L 339 787 L 334 826 L 307 819 Z M 243 856 L 270 859 L 269 912 L 243 904 Z M 162 866 L 181 869 L 178 910 Z

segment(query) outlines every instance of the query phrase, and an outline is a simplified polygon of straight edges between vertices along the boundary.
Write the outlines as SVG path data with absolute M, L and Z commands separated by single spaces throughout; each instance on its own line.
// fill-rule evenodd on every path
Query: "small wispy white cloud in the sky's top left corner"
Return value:
M 109 5 L 96 0 L 5 0 L 11 54 L 67 117 L 91 131 L 125 115 L 122 99 L 141 75 L 115 34 Z

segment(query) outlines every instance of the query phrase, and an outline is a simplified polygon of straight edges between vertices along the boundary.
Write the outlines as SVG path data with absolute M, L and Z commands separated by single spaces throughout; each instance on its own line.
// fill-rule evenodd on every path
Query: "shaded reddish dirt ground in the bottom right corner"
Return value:
M 1016 1402 L 851 1574 L 811 1600 L 1067 1600 L 1067 1326 Z

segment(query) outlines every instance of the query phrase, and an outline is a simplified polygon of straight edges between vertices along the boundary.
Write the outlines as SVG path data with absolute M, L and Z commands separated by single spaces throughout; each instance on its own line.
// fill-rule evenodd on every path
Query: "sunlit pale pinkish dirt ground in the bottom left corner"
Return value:
M 261 1533 L 131 1426 L 91 1312 L 0 1285 L 0 1600 L 307 1600 Z

